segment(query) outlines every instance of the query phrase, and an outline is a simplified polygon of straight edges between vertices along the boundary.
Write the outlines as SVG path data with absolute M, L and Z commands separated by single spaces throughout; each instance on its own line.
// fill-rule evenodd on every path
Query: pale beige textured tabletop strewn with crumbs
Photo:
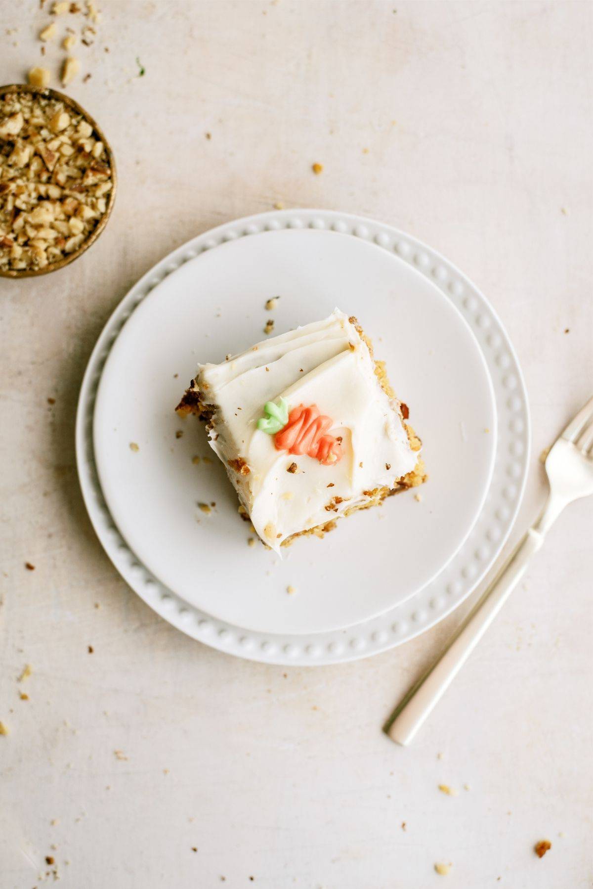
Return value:
M 360 212 L 444 252 L 507 325 L 533 412 L 525 525 L 537 456 L 593 388 L 591 5 L 102 7 L 97 42 L 75 49 L 92 78 L 71 94 L 113 142 L 113 218 L 73 267 L 0 281 L 0 884 L 39 885 L 49 855 L 76 889 L 584 889 L 591 503 L 561 518 L 404 750 L 381 724 L 461 613 L 340 667 L 213 652 L 119 580 L 73 434 L 94 340 L 164 253 L 276 202 Z M 36 0 L 0 2 L 0 82 L 39 63 L 48 19 Z M 63 54 L 48 46 L 52 72 Z

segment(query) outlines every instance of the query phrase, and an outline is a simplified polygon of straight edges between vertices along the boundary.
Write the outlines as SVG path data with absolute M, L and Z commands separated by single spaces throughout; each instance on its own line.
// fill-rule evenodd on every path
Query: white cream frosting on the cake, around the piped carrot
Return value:
M 374 371 L 365 341 L 337 308 L 323 321 L 259 342 L 222 364 L 198 366 L 196 384 L 213 411 L 212 450 L 255 531 L 277 553 L 292 534 L 341 517 L 369 499 L 365 492 L 395 487 L 416 465 L 399 403 Z M 332 418 L 340 461 L 325 466 L 307 454 L 276 450 L 275 436 L 257 423 L 264 404 L 281 397 L 290 410 L 317 404 Z

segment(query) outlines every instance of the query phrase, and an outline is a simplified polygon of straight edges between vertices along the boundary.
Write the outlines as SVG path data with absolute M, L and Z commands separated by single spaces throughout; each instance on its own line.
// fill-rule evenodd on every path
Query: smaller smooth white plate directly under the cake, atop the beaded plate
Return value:
M 264 310 L 279 294 L 276 311 Z M 204 425 L 173 412 L 198 361 L 276 332 L 358 317 L 423 441 L 429 484 L 342 519 L 284 561 L 247 547 L 236 494 Z M 179 374 L 179 376 L 176 376 Z M 176 438 L 176 430 L 183 436 Z M 130 443 L 137 443 L 132 452 Z M 221 244 L 166 276 L 119 333 L 100 380 L 94 449 L 124 539 L 167 587 L 214 617 L 265 633 L 340 629 L 425 587 L 483 506 L 496 445 L 493 388 L 469 324 L 397 254 L 331 231 L 268 231 Z M 212 464 L 192 465 L 194 454 Z M 216 504 L 205 516 L 198 502 Z M 286 593 L 294 587 L 297 595 Z

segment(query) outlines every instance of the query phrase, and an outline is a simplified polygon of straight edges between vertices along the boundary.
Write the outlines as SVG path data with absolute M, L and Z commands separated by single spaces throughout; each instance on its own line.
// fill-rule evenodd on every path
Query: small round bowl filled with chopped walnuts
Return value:
M 0 86 L 0 276 L 45 275 L 88 250 L 116 198 L 99 126 L 61 92 Z

